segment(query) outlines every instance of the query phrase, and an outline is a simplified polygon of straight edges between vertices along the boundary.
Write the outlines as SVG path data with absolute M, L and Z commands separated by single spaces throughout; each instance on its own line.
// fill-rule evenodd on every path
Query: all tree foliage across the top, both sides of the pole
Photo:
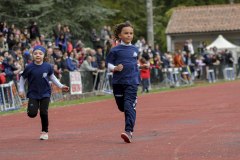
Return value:
M 166 46 L 165 29 L 174 7 L 227 4 L 229 0 L 153 0 L 155 42 Z M 240 0 L 235 0 L 240 3 Z M 130 21 L 135 38 L 147 37 L 146 0 L 0 0 L 0 21 L 18 27 L 36 21 L 50 36 L 57 23 L 69 25 L 75 38 L 89 40 L 92 28 Z

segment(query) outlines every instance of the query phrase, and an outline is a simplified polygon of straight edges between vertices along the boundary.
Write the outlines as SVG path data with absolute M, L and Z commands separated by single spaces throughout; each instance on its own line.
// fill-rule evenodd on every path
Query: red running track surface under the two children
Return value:
M 114 100 L 50 109 L 50 139 L 40 119 L 0 117 L 0 160 L 239 160 L 240 83 L 139 96 L 134 141 L 120 138 Z

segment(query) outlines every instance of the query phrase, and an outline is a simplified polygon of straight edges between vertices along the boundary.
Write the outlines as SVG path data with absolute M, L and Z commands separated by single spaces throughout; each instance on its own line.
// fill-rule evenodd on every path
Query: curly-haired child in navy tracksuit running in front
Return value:
M 131 44 L 133 27 L 129 22 L 116 25 L 114 35 L 121 43 L 110 50 L 107 65 L 113 71 L 113 94 L 118 109 L 125 115 L 125 132 L 121 137 L 126 143 L 131 143 L 139 85 L 138 49 Z

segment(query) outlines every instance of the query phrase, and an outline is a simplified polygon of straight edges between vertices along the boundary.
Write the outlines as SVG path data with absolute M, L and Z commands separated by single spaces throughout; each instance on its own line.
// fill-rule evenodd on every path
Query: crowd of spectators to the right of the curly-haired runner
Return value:
M 192 83 L 192 80 L 201 79 L 205 77 L 208 80 L 208 70 L 213 69 L 216 78 L 223 75 L 225 68 L 233 68 L 239 73 L 240 58 L 237 60 L 230 50 L 218 50 L 216 47 L 207 50 L 206 43 L 201 42 L 199 46 L 195 47 L 192 44 L 192 39 L 186 40 L 182 48 L 173 52 L 161 52 L 159 45 L 154 48 L 149 46 L 144 38 L 141 38 L 135 44 L 139 47 L 140 59 L 144 58 L 150 65 L 152 72 L 151 79 L 159 81 L 162 71 L 169 68 L 178 68 L 181 70 L 182 78 L 187 82 Z M 238 62 L 235 66 L 234 62 Z M 219 70 L 217 69 L 219 68 Z M 205 75 L 203 75 L 205 74 Z

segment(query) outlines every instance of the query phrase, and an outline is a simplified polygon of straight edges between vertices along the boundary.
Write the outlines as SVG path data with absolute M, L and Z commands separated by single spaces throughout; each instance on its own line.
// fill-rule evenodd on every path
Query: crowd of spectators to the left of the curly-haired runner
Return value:
M 90 34 L 92 47 L 86 47 L 79 39 L 73 42 L 68 25 L 58 23 L 52 36 L 45 37 L 36 22 L 17 28 L 7 22 L 0 23 L 0 84 L 18 81 L 24 67 L 32 62 L 32 50 L 36 45 L 47 49 L 45 60 L 53 65 L 55 75 L 61 79 L 63 72 L 98 71 L 105 69 L 105 58 L 114 41 L 109 26 L 103 26 L 100 34 Z

